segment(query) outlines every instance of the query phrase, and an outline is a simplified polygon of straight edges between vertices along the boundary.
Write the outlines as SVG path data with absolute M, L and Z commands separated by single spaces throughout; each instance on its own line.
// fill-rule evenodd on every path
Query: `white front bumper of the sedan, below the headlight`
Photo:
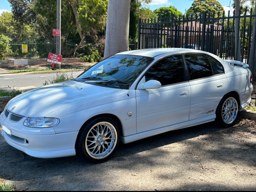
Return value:
M 4 117 L 3 113 L 0 115 L 0 127 L 3 128 L 2 136 L 12 147 L 29 156 L 40 158 L 76 155 L 75 144 L 78 131 L 56 134 L 52 127 L 29 128 L 23 125 L 24 120 L 13 124 Z

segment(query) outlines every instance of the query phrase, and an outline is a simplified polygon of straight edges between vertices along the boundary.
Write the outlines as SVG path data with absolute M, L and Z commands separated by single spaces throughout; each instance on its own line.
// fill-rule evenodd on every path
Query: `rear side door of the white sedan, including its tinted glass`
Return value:
M 184 54 L 191 86 L 189 120 L 214 115 L 227 93 L 227 77 L 221 63 L 207 54 Z

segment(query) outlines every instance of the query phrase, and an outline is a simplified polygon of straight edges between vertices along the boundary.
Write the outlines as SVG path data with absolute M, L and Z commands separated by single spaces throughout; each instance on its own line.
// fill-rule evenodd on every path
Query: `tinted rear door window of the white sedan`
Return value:
M 212 68 L 204 54 L 185 54 L 190 80 L 212 76 Z

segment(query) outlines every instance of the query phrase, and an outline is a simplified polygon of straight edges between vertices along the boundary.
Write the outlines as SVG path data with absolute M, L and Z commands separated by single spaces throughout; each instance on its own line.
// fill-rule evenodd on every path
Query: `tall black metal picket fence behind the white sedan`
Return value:
M 185 47 L 212 52 L 225 59 L 237 60 L 238 52 L 241 61 L 248 63 L 252 45 L 253 19 L 256 15 L 246 10 L 240 16 L 225 17 L 205 13 L 187 15 L 186 17 L 139 19 L 138 22 L 138 49 L 157 47 Z M 241 50 L 236 50 L 235 19 L 239 20 L 239 35 Z M 255 49 L 255 48 L 254 48 Z

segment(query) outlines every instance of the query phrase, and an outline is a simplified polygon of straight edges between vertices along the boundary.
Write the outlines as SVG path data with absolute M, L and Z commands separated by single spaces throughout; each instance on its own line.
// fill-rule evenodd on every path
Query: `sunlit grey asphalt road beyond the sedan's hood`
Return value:
M 72 74 L 73 77 L 77 77 L 80 72 L 67 72 L 67 75 Z M 26 74 L 26 75 L 10 75 L 10 76 L 1 76 L 0 75 L 0 88 L 17 88 L 19 90 L 30 90 L 33 88 L 38 88 L 43 86 L 44 82 L 56 77 L 56 73 L 51 74 Z

